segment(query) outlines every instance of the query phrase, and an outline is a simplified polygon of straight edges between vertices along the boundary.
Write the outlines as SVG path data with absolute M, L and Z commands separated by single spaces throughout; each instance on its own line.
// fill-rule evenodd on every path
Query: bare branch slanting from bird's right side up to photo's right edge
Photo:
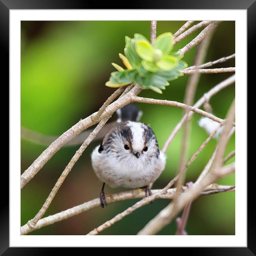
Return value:
M 204 104 L 206 101 L 208 101 L 213 95 L 215 95 L 216 93 L 218 93 L 220 90 L 226 88 L 228 85 L 231 85 L 235 82 L 235 75 L 232 75 L 231 77 L 223 80 L 221 83 L 217 84 L 215 87 L 213 87 L 210 91 L 208 91 L 207 93 L 204 94 L 203 97 L 201 97 L 196 104 L 193 106 L 195 108 L 199 108 L 202 104 Z M 188 118 L 190 118 L 192 115 L 194 114 L 194 112 L 189 112 Z M 170 145 L 170 143 L 172 142 L 174 136 L 177 134 L 177 132 L 179 131 L 179 129 L 181 129 L 184 121 L 186 120 L 186 116 L 183 117 L 181 119 L 181 121 L 176 125 L 176 127 L 173 129 L 172 133 L 169 135 L 168 139 L 166 140 L 166 142 L 164 143 L 164 146 L 162 148 L 162 151 L 165 153 Z

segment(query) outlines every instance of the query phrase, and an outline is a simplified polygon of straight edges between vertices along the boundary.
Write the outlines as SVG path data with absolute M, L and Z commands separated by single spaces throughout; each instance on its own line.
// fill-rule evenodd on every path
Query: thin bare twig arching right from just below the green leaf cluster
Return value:
M 203 111 L 202 109 L 195 108 L 189 105 L 186 105 L 184 103 L 180 103 L 177 101 L 172 101 L 172 100 L 162 100 L 162 99 L 151 99 L 151 98 L 143 98 L 143 97 L 138 97 L 134 96 L 133 98 L 134 102 L 140 102 L 140 103 L 149 103 L 149 104 L 158 104 L 158 105 L 167 105 L 167 106 L 173 106 L 173 107 L 178 107 L 178 108 L 183 108 L 183 109 L 188 109 L 190 111 L 193 111 L 197 114 L 203 115 L 204 117 L 208 117 L 218 123 L 222 123 L 225 120 L 216 117 L 215 115 L 212 115 L 206 111 Z M 233 125 L 235 125 L 233 123 Z

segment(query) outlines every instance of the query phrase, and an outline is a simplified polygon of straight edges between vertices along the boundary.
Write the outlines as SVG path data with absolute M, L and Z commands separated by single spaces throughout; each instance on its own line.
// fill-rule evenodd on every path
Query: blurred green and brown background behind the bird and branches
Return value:
M 173 34 L 186 21 L 158 21 L 157 35 L 170 31 Z M 202 30 L 202 29 L 201 29 Z M 199 30 L 200 31 L 200 30 Z M 188 36 L 175 45 L 182 48 L 198 33 Z M 67 131 L 80 118 L 97 111 L 114 91 L 104 84 L 108 81 L 115 62 L 123 65 L 118 53 L 123 53 L 124 36 L 131 38 L 141 33 L 149 38 L 150 21 L 21 21 L 21 125 L 36 132 L 58 136 Z M 223 43 L 225 42 L 225 43 Z M 197 47 L 183 58 L 193 65 Z M 216 29 L 206 56 L 206 62 L 235 53 L 235 22 L 224 21 Z M 235 67 L 232 59 L 215 67 Z M 196 100 L 231 73 L 202 74 Z M 188 76 L 172 81 L 163 94 L 144 90 L 140 96 L 183 102 Z M 235 97 L 235 85 L 231 85 L 210 100 L 213 114 L 225 118 Z M 182 118 L 182 109 L 137 104 L 143 110 L 141 122 L 151 124 L 160 148 L 175 125 Z M 192 118 L 188 157 L 207 138 L 204 129 L 198 126 L 201 116 Z M 116 114 L 110 121 L 116 119 Z M 166 168 L 154 183 L 153 188 L 164 187 L 177 172 L 181 151 L 182 130 L 167 151 Z M 99 196 L 102 183 L 95 176 L 90 153 L 99 141 L 93 141 L 75 164 L 60 187 L 44 217 L 82 204 Z M 196 178 L 210 158 L 216 140 L 207 147 L 189 166 L 186 182 Z M 21 173 L 45 149 L 21 140 Z M 79 146 L 61 148 L 38 174 L 21 190 L 21 225 L 33 218 L 48 197 L 55 182 Z M 227 153 L 235 149 L 233 135 Z M 234 161 L 232 158 L 230 163 Z M 219 184 L 235 184 L 235 174 L 218 181 Z M 123 188 L 105 187 L 105 193 L 117 193 Z M 127 200 L 94 208 L 67 220 L 43 227 L 30 235 L 84 235 L 103 222 L 122 212 L 138 200 Z M 100 235 L 135 235 L 151 220 L 169 200 L 156 200 L 107 228 Z M 235 235 L 235 192 L 202 196 L 192 204 L 186 231 L 189 235 Z M 175 223 L 165 227 L 158 235 L 174 235 Z

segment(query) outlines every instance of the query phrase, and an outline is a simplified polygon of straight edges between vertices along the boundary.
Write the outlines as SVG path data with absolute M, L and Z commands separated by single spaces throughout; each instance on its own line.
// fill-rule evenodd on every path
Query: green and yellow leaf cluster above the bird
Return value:
M 111 73 L 106 85 L 121 87 L 137 83 L 143 89 L 162 93 L 168 81 L 177 79 L 182 75 L 180 70 L 187 67 L 181 60 L 183 54 L 171 52 L 172 49 L 173 38 L 169 32 L 159 35 L 153 44 L 141 34 L 134 34 L 134 38 L 125 36 L 124 55 L 119 53 L 119 57 L 127 69 L 112 63 L 117 71 Z

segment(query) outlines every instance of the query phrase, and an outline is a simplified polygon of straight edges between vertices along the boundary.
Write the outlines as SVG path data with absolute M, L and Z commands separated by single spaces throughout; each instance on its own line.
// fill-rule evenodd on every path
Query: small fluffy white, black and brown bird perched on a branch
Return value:
M 92 152 L 92 166 L 103 182 L 100 204 L 107 202 L 104 186 L 145 188 L 146 197 L 152 195 L 149 184 L 162 173 L 166 156 L 159 151 L 158 142 L 149 125 L 136 122 L 142 112 L 129 104 L 117 111 L 117 126 L 104 137 Z

